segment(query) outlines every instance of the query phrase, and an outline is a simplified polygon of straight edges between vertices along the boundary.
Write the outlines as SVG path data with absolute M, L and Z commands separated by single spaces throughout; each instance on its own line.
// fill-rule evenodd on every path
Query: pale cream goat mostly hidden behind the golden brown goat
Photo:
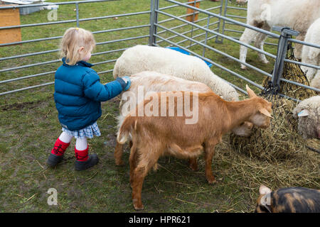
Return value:
M 130 76 L 131 87 L 127 92 L 122 93 L 122 101 L 120 102 L 120 113 L 118 116 L 118 130 L 122 126 L 124 118 L 129 114 L 129 111 L 144 99 L 148 92 L 171 92 L 171 91 L 186 91 L 186 92 L 212 92 L 210 87 L 201 82 L 193 82 L 186 79 L 181 79 L 168 74 L 159 72 L 139 72 Z M 149 93 L 150 94 L 150 93 Z M 127 101 L 126 101 L 127 100 Z M 244 122 L 233 128 L 233 133 L 240 136 L 250 135 L 252 123 Z M 117 143 L 114 150 L 114 159 L 116 165 L 122 165 L 122 150 L 123 146 Z M 193 166 L 194 166 L 194 162 Z

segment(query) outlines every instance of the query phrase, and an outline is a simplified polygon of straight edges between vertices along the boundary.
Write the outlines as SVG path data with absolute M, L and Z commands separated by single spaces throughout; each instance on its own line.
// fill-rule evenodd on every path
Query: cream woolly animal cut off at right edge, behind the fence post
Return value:
M 306 31 L 306 38 L 304 41 L 306 43 L 320 45 L 320 18 L 314 21 L 308 31 Z M 320 49 L 304 45 L 302 48 L 302 62 L 311 65 L 320 65 Z M 306 66 L 302 66 L 301 68 L 306 72 L 306 77 L 309 79 L 309 82 L 311 82 L 310 85 L 313 84 L 311 85 L 312 87 L 320 89 L 320 70 Z

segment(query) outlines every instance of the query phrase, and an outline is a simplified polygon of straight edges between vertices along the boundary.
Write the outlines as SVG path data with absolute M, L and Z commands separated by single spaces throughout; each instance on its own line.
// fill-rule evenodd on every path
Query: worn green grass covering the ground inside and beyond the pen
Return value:
M 161 1 L 161 6 L 163 4 Z M 218 6 L 220 3 L 212 1 L 201 2 L 201 8 L 206 9 Z M 105 16 L 129 12 L 148 11 L 149 0 L 133 1 L 110 1 L 99 4 L 80 4 L 80 18 Z M 58 20 L 75 19 L 75 6 L 60 6 Z M 181 7 L 167 10 L 174 15 L 186 13 Z M 21 24 L 47 22 L 48 11 L 39 11 L 27 16 L 21 16 Z M 215 10 L 218 13 L 218 10 Z M 228 11 L 232 13 L 232 11 Z M 233 12 L 233 14 L 239 12 Z M 243 12 L 241 11 L 240 13 Z M 205 17 L 200 14 L 199 18 Z M 167 18 L 160 15 L 159 21 Z M 212 19 L 214 21 L 214 19 Z M 149 23 L 149 14 L 140 16 L 124 16 L 117 20 L 114 18 L 81 22 L 80 27 L 90 31 L 122 28 Z M 164 23 L 164 26 L 179 25 L 178 21 Z M 206 25 L 206 20 L 199 23 Z M 63 35 L 66 28 L 75 26 L 75 23 L 59 24 L 53 26 L 41 26 L 21 28 L 22 39 L 45 38 Z M 177 29 L 183 32 L 188 28 Z M 235 28 L 236 26 L 228 26 Z M 159 29 L 161 31 L 161 29 Z M 193 35 L 200 31 L 195 31 Z M 137 35 L 149 34 L 148 28 L 118 31 L 114 33 L 102 33 L 95 35 L 97 42 L 129 38 Z M 238 35 L 226 33 L 227 35 Z M 172 34 L 164 33 L 165 38 Z M 187 34 L 190 35 L 190 34 Z M 197 40 L 202 40 L 198 38 Z M 174 42 L 182 38 L 173 39 Z M 40 43 L 29 43 L 0 48 L 0 56 L 21 55 L 28 52 L 39 52 L 44 50 L 55 50 L 58 48 L 59 40 L 49 40 Z M 114 50 L 118 48 L 129 48 L 137 44 L 147 44 L 148 38 L 141 40 L 130 40 L 110 45 L 98 45 L 95 52 Z M 183 43 L 184 46 L 190 42 Z M 165 42 L 161 46 L 168 45 Z M 239 45 L 224 40 L 222 44 L 210 40 L 208 45 L 239 57 Z M 202 48 L 192 47 L 191 50 L 202 54 Z M 265 50 L 275 54 L 276 49 L 265 45 Z M 110 55 L 97 55 L 90 62 L 101 62 L 117 59 L 121 52 Z M 264 77 L 254 70 L 240 70 L 237 62 L 227 57 L 218 55 L 213 51 L 206 50 L 206 57 L 228 69 L 238 72 L 243 76 L 261 84 Z M 33 57 L 21 57 L 16 60 L 0 62 L 1 69 L 46 62 L 58 59 L 58 52 L 47 55 L 36 55 Z M 271 72 L 273 62 L 264 65 L 257 60 L 257 54 L 249 50 L 247 62 L 259 67 L 266 72 Z M 23 70 L 14 70 L 0 73 L 1 80 L 38 74 L 56 70 L 59 63 L 43 65 L 40 67 L 28 67 Z M 113 63 L 97 65 L 93 67 L 97 72 L 112 70 Z M 245 82 L 234 77 L 228 72 L 212 68 L 215 74 L 233 82 L 242 89 Z M 112 81 L 112 74 L 100 74 L 102 82 Z M 0 85 L 0 92 L 18 89 L 35 84 L 53 81 L 53 74 L 24 79 L 17 82 Z M 58 113 L 53 101 L 53 86 L 41 87 L 6 96 L 0 96 L 0 211 L 4 212 L 132 212 L 131 193 L 129 187 L 129 150 L 124 153 L 125 165 L 117 167 L 114 165 L 113 150 L 115 144 L 116 120 L 118 114 L 119 99 L 112 99 L 102 104 L 102 117 L 97 121 L 102 136 L 89 140 L 90 153 L 97 153 L 100 162 L 96 167 L 84 172 L 75 172 L 73 147 L 75 141 L 65 153 L 65 160 L 55 169 L 46 167 L 46 159 L 52 149 L 55 139 L 60 135 L 60 124 Z M 228 141 L 228 138 L 224 138 Z M 239 168 L 236 163 L 238 158 L 245 160 L 246 168 Z M 306 157 L 309 157 L 308 155 Z M 312 156 L 314 160 L 314 172 L 311 177 L 305 177 L 302 185 L 305 187 L 319 188 L 319 157 Z M 142 201 L 146 212 L 250 212 L 255 209 L 255 199 L 260 183 L 268 184 L 270 187 L 278 188 L 290 186 L 286 177 L 263 176 L 257 172 L 257 177 L 249 179 L 252 174 L 250 165 L 262 165 L 275 168 L 272 163 L 263 160 L 255 160 L 242 154 L 236 154 L 228 147 L 227 143 L 218 145 L 216 155 L 213 158 L 213 174 L 218 183 L 209 185 L 204 175 L 204 163 L 199 160 L 199 170 L 196 172 L 188 168 L 186 160 L 178 160 L 174 157 L 162 157 L 159 160 L 159 170 L 150 172 L 144 181 Z M 283 162 L 286 165 L 286 162 Z M 297 161 L 297 165 L 299 161 Z M 292 166 L 294 168 L 294 166 Z M 290 169 L 282 167 L 281 171 L 286 174 Z M 302 177 L 304 175 L 298 175 Z M 292 185 L 293 186 L 293 185 Z M 55 188 L 58 191 L 58 206 L 48 206 L 48 189 Z

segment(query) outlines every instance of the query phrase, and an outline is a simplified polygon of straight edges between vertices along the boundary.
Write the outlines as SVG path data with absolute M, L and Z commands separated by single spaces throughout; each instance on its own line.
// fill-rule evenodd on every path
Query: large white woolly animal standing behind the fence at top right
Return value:
M 242 0 L 239 0 L 239 2 Z M 311 23 L 320 17 L 320 1 L 318 0 L 248 0 L 247 24 L 270 31 L 272 26 L 289 27 L 299 31 L 297 40 L 304 40 Z M 240 41 L 250 44 L 255 41 L 255 47 L 263 50 L 267 35 L 245 28 Z M 296 44 L 295 57 L 301 59 L 302 45 Z M 240 45 L 240 60 L 245 62 L 247 48 Z M 264 54 L 258 53 L 260 60 L 268 63 Z M 244 70 L 245 65 L 241 65 Z

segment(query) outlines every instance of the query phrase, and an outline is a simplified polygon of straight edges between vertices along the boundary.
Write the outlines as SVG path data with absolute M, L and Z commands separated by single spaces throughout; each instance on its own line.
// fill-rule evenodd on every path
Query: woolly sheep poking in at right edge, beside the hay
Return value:
M 320 138 L 320 96 L 304 99 L 292 111 L 303 138 Z

